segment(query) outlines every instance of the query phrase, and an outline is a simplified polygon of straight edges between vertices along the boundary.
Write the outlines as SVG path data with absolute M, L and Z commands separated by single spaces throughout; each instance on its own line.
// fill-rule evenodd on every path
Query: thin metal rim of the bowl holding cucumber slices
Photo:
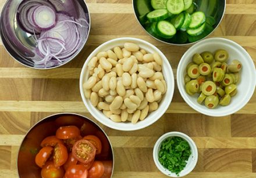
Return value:
M 133 14 L 138 22 L 138 24 L 140 24 L 140 27 L 143 28 L 143 30 L 148 34 L 150 35 L 150 37 L 156 39 L 157 41 L 159 42 L 162 42 L 162 43 L 165 43 L 166 45 L 175 45 L 175 46 L 186 46 L 186 45 L 193 45 L 197 42 L 200 42 L 202 40 L 204 40 L 205 38 L 209 37 L 209 35 L 211 35 L 218 27 L 219 25 L 221 24 L 221 21 L 225 15 L 225 11 L 226 11 L 226 0 L 224 0 L 224 9 L 223 9 L 223 13 L 222 13 L 222 16 L 221 16 L 221 19 L 219 20 L 219 23 L 217 24 L 217 26 L 214 28 L 214 30 L 212 30 L 207 36 L 205 36 L 204 38 L 198 40 L 198 41 L 195 41 L 195 42 L 191 42 L 191 43 L 184 43 L 184 44 L 177 44 L 177 43 L 169 43 L 169 42 L 166 42 L 166 41 L 162 41 L 161 39 L 158 39 L 156 37 L 154 37 L 153 35 L 151 35 L 147 30 L 145 30 L 145 28 L 143 27 L 143 25 L 140 23 L 140 20 L 138 20 L 137 16 L 136 16 L 136 12 L 135 12 L 135 9 L 134 9 L 134 1 L 135 0 L 132 0 L 132 6 L 133 6 Z

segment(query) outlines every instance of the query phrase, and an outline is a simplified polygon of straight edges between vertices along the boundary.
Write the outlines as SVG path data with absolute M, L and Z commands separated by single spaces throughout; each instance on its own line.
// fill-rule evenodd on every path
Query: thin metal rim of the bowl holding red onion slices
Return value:
M 0 23 L 1 23 L 1 21 L 2 21 L 2 20 L 1 20 L 2 12 L 3 12 L 3 9 L 5 8 L 5 6 L 7 5 L 7 2 L 8 2 L 8 0 L 5 1 L 4 5 L 3 5 L 3 8 L 2 8 L 2 10 L 1 10 L 1 14 L 0 14 Z M 17 60 L 13 55 L 10 54 L 9 50 L 8 50 L 8 49 L 6 48 L 6 46 L 5 46 L 5 43 L 3 43 L 3 40 L 2 40 L 2 32 L 1 32 L 2 30 L 0 29 L 0 39 L 1 39 L 1 41 L 2 41 L 2 46 L 3 46 L 3 48 L 5 48 L 5 51 L 8 52 L 8 54 L 10 55 L 10 57 L 12 57 L 12 59 L 14 59 L 14 60 L 17 61 L 18 63 L 22 64 L 23 66 L 26 66 L 26 67 L 29 67 L 29 68 L 33 68 L 33 69 L 35 69 L 35 70 L 51 70 L 51 69 L 58 68 L 58 67 L 61 67 L 61 66 L 65 65 L 65 64 L 69 63 L 70 61 L 72 61 L 74 58 L 76 58 L 76 57 L 80 54 L 81 50 L 84 49 L 84 46 L 86 46 L 86 42 L 88 41 L 88 38 L 89 38 L 89 35 L 90 35 L 90 30 L 91 30 L 91 16 L 90 16 L 90 11 L 89 11 L 88 5 L 87 5 L 86 1 L 84 1 L 84 0 L 82 0 L 81 2 L 83 2 L 84 5 L 86 5 L 87 11 L 88 11 L 89 28 L 88 28 L 88 34 L 87 34 L 86 40 L 84 41 L 83 45 L 81 45 L 81 48 L 80 48 L 79 52 L 76 53 L 76 55 L 74 55 L 74 56 L 72 57 L 72 59 L 70 59 L 70 60 L 66 61 L 65 63 L 62 63 L 62 64 L 60 64 L 60 65 L 58 65 L 58 66 L 48 67 L 48 68 L 39 68 L 39 67 L 28 66 L 27 64 L 22 63 L 21 61 Z

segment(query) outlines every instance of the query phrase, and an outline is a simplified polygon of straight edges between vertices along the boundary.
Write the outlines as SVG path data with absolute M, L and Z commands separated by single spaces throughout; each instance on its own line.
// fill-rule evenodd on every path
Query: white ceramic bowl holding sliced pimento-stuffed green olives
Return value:
M 186 93 L 184 76 L 186 75 L 186 66 L 191 61 L 194 53 L 204 51 L 214 53 L 217 49 L 227 50 L 229 53 L 227 64 L 230 64 L 234 59 L 238 59 L 241 61 L 243 68 L 240 71 L 241 81 L 237 85 L 237 95 L 232 97 L 230 104 L 225 107 L 217 106 L 214 109 L 209 109 L 205 107 L 204 104 L 197 103 L 198 95 L 190 96 Z M 251 96 L 253 96 L 256 85 L 255 78 L 256 70 L 250 55 L 239 44 L 225 38 L 208 38 L 193 45 L 184 53 L 177 68 L 177 86 L 183 99 L 194 110 L 213 117 L 230 115 L 243 108 L 248 103 Z

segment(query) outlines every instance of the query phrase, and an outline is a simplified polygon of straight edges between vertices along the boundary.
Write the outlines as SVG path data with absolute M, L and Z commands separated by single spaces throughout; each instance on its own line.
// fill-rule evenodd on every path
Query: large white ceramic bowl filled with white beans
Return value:
M 151 112 L 143 121 L 138 121 L 136 124 L 133 124 L 130 122 L 129 123 L 113 122 L 111 119 L 107 118 L 102 113 L 102 111 L 99 111 L 97 108 L 95 108 L 91 104 L 90 100 L 86 99 L 83 91 L 83 83 L 84 81 L 86 81 L 86 79 L 89 76 L 89 73 L 88 73 L 89 71 L 87 70 L 87 64 L 91 60 L 91 58 L 93 56 L 96 56 L 99 51 L 106 51 L 108 49 L 113 49 L 115 46 L 123 46 L 125 42 L 137 43 L 140 46 L 140 48 L 145 49 L 147 52 L 150 52 L 150 53 L 157 52 L 162 57 L 162 60 L 163 60 L 162 72 L 167 85 L 167 92 L 163 96 L 161 103 L 159 103 L 159 108 L 156 111 Z M 170 66 L 170 63 L 168 59 L 166 59 L 165 55 L 163 55 L 163 53 L 151 43 L 148 43 L 147 41 L 144 41 L 142 39 L 129 38 L 129 37 L 112 39 L 98 46 L 98 48 L 96 48 L 91 53 L 91 55 L 88 56 L 86 62 L 84 63 L 84 66 L 82 68 L 81 75 L 80 75 L 80 93 L 87 110 L 99 122 L 108 126 L 109 128 L 117 129 L 117 130 L 138 130 L 138 129 L 145 128 L 151 125 L 152 123 L 156 122 L 165 113 L 165 111 L 168 109 L 170 105 L 170 101 L 172 100 L 172 96 L 173 96 L 174 85 L 175 83 L 174 83 L 172 67 Z

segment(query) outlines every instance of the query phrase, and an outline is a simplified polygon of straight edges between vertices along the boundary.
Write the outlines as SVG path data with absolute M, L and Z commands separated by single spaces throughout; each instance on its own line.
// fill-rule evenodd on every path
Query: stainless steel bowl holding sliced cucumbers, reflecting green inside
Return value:
M 133 10 L 134 10 L 134 14 L 136 16 L 136 19 L 138 21 L 138 23 L 140 24 L 140 26 L 145 30 L 145 32 L 147 32 L 147 34 L 149 34 L 152 38 L 157 39 L 158 41 L 161 41 L 163 43 L 169 44 L 169 45 L 192 45 L 193 43 L 196 43 L 198 41 L 201 41 L 202 39 L 207 38 L 209 35 L 212 34 L 212 32 L 214 32 L 216 30 L 216 28 L 219 26 L 219 24 L 221 23 L 223 16 L 225 14 L 225 9 L 226 9 L 226 0 L 194 0 L 195 3 L 197 3 L 197 5 L 199 4 L 200 6 L 202 6 L 202 8 L 200 8 L 202 10 L 202 12 L 204 12 L 206 15 L 211 15 L 214 14 L 216 23 L 213 26 L 213 30 L 211 32 L 209 32 L 208 35 L 206 35 L 204 38 L 201 38 L 198 41 L 195 42 L 186 42 L 186 43 L 176 43 L 176 42 L 172 42 L 172 40 L 169 39 L 164 39 L 164 38 L 158 38 L 158 37 L 154 37 L 152 34 L 150 34 L 150 32 L 148 32 L 145 29 L 145 26 L 143 26 L 140 23 L 139 17 L 140 15 L 138 14 L 138 10 L 137 10 L 137 2 L 148 2 L 150 3 L 150 1 L 147 0 L 133 0 Z M 209 14 L 211 13 L 211 14 Z

